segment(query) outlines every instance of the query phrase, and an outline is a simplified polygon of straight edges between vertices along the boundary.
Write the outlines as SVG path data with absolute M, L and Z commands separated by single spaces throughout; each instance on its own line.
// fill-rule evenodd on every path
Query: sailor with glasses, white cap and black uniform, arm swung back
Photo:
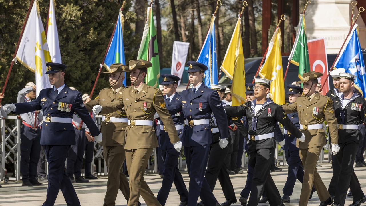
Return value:
M 280 193 L 270 175 L 275 151 L 276 139 L 274 130 L 277 122 L 283 124 L 295 137 L 303 141 L 304 135 L 291 123 L 283 109 L 266 98 L 269 93 L 270 80 L 254 78 L 255 85 L 253 101 L 242 106 L 227 108 L 226 114 L 230 117 L 246 116 L 249 122 L 249 165 L 254 168 L 253 184 L 248 205 L 258 205 L 263 190 L 266 190 L 269 204 L 283 205 Z M 284 141 L 284 140 L 283 140 Z M 281 141 L 281 142 L 283 142 Z M 284 143 L 284 142 L 283 142 Z M 240 198 L 243 199 L 243 198 Z M 240 201 L 239 199 L 239 201 Z M 240 201 L 242 202 L 242 201 Z M 243 203 L 246 203 L 243 201 Z

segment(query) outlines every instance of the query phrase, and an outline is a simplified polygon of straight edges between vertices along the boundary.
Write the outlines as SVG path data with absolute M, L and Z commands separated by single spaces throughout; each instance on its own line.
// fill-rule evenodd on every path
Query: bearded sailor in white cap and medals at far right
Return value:
M 336 159 L 340 165 L 339 175 L 337 175 L 337 187 L 335 199 L 332 206 L 343 206 L 346 200 L 348 186 L 350 186 L 353 203 L 352 206 L 359 206 L 366 202 L 361 186 L 353 170 L 355 155 L 358 150 L 358 142 L 361 132 L 358 125 L 365 120 L 366 102 L 357 93 L 353 92 L 354 79 L 356 76 L 349 73 L 340 73 L 340 91 L 342 95 L 335 99 L 333 107 L 338 122 L 339 146 Z M 333 174 L 333 176 L 336 174 Z

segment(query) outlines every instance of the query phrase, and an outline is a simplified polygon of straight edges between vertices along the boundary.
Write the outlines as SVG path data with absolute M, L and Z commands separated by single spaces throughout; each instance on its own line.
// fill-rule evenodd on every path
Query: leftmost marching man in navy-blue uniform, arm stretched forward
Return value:
M 77 206 L 80 205 L 78 196 L 64 169 L 67 151 L 75 144 L 72 115 L 79 115 L 97 142 L 101 141 L 102 135 L 83 104 L 82 94 L 72 91 L 64 83 L 66 65 L 48 62 L 46 66 L 53 88 L 42 89 L 37 99 L 31 102 L 6 104 L 3 108 L 7 113 L 17 114 L 43 110 L 41 145 L 48 161 L 48 188 L 43 205 L 54 205 L 61 189 L 67 205 Z

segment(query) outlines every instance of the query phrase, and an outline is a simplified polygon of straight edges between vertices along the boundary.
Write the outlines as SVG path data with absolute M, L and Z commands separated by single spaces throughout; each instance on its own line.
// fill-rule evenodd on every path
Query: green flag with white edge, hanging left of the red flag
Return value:
M 299 66 L 299 78 L 302 80 L 302 74 L 310 71 L 309 53 L 307 51 L 307 40 L 305 32 L 305 18 L 303 14 L 299 17 L 298 30 L 296 32 L 296 39 L 294 47 L 288 60 L 294 65 Z

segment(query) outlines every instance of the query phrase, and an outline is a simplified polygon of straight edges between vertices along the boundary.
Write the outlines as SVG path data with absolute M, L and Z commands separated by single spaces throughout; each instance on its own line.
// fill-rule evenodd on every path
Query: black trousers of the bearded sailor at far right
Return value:
M 340 165 L 340 172 L 337 182 L 334 202 L 344 205 L 346 201 L 348 186 L 351 188 L 353 202 L 359 201 L 364 197 L 363 191 L 353 170 L 358 143 L 351 141 L 339 144 L 340 150 L 336 154 L 336 159 Z

